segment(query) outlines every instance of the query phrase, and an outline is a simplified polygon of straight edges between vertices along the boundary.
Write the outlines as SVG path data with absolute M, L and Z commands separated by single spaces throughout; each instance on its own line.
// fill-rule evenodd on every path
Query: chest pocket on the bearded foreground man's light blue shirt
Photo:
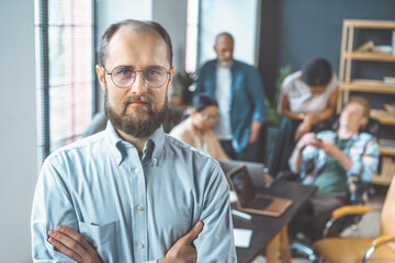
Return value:
M 78 221 L 80 233 L 95 248 L 102 262 L 121 262 L 120 221 L 93 225 Z

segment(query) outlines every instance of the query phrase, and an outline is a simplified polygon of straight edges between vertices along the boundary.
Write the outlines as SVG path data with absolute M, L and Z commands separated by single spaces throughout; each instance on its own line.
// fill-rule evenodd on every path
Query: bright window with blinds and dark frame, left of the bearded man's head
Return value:
M 78 139 L 95 113 L 94 0 L 36 0 L 38 161 Z

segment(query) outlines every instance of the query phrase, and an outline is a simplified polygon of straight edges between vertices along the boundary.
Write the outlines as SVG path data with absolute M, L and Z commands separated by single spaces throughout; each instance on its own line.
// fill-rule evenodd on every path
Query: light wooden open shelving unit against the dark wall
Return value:
M 337 112 L 340 113 L 343 104 L 348 102 L 350 91 L 381 94 L 395 94 L 395 84 L 385 83 L 381 80 L 352 79 L 352 61 L 384 61 L 395 62 L 395 55 L 380 52 L 356 52 L 354 30 L 395 30 L 395 21 L 371 21 L 371 20 L 345 20 L 342 28 L 340 72 L 339 72 L 339 98 L 337 102 Z M 363 43 L 359 43 L 360 45 Z M 395 125 L 395 114 L 381 108 L 371 110 L 371 117 L 377 119 L 382 125 Z M 395 159 L 395 140 L 381 139 L 380 153 L 386 158 L 386 162 Z M 390 158 L 390 159 L 388 159 Z M 381 169 L 382 170 L 382 169 Z M 388 174 L 377 174 L 373 183 L 390 185 L 391 176 Z

